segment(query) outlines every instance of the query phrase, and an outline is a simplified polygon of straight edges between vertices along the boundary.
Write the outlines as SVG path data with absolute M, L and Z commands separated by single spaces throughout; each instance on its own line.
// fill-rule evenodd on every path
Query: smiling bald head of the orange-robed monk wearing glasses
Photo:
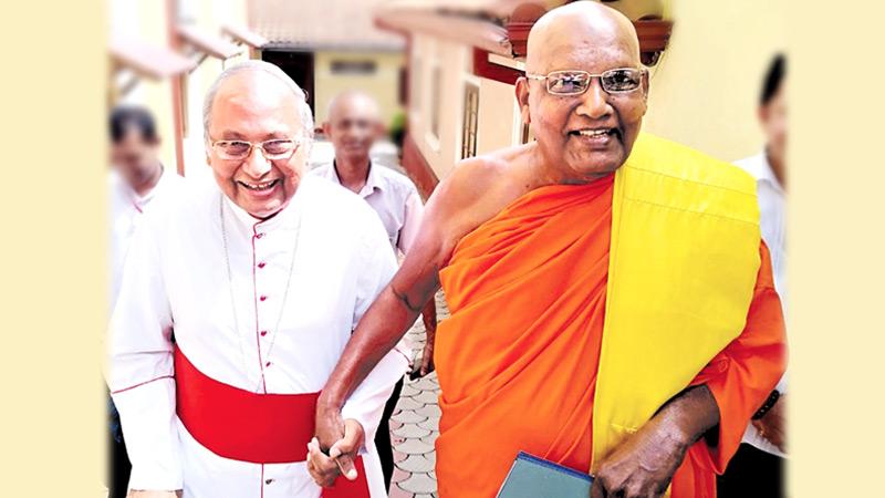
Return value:
M 629 21 L 595 2 L 571 3 L 541 18 L 529 37 L 525 66 L 534 74 L 642 69 Z M 522 118 L 531 123 L 545 162 L 559 168 L 564 181 L 592 180 L 624 164 L 639 134 L 647 95 L 647 74 L 639 89 L 612 94 L 598 77 L 580 95 L 553 95 L 539 80 L 517 83 Z

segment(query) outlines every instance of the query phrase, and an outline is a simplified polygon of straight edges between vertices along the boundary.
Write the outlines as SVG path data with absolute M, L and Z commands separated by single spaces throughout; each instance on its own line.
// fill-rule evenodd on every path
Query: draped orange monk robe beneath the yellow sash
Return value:
M 613 178 L 520 197 L 466 236 L 440 272 L 451 311 L 435 352 L 441 498 L 494 497 L 520 450 L 590 470 Z M 781 307 L 764 246 L 760 253 L 743 332 L 695 380 L 719 405 L 718 443 L 690 448 L 674 498 L 716 495 L 714 471 L 783 372 Z

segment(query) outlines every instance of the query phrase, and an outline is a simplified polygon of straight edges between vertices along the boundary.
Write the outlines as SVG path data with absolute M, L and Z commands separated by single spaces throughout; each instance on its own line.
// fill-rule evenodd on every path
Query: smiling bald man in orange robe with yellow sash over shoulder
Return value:
M 342 404 L 441 286 L 440 498 L 494 497 L 520 450 L 592 474 L 592 498 L 716 496 L 785 370 L 783 317 L 752 177 L 641 133 L 648 87 L 616 10 L 538 20 L 516 86 L 537 141 L 428 199 L 317 398 L 314 480 L 334 486 Z

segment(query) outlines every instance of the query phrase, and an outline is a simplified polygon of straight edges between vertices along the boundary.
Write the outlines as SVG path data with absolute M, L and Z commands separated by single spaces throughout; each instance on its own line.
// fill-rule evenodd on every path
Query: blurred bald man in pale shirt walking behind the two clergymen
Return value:
M 369 157 L 375 141 L 384 133 L 378 104 L 368 94 L 350 90 L 342 92 L 329 105 L 327 121 L 323 133 L 332 142 L 335 158 L 331 164 L 321 165 L 311 175 L 325 178 L 358 195 L 377 212 L 387 239 L 398 256 L 405 256 L 415 240 L 424 215 L 418 189 L 408 177 L 392 168 L 376 164 Z M 424 376 L 433 372 L 434 335 L 436 333 L 436 303 L 430 300 L 423 311 L 427 339 L 419 364 L 414 365 L 413 376 Z M 402 345 L 400 345 L 402 349 Z M 375 446 L 378 448 L 385 487 L 389 491 L 394 470 L 393 448 L 391 446 L 389 418 L 393 415 L 403 380 L 397 382 L 394 393 L 387 401 Z

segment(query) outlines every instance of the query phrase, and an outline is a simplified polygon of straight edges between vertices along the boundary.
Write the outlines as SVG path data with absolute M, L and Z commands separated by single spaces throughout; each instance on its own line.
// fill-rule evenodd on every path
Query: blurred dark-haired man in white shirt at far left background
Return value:
M 154 116 L 144 107 L 118 106 L 111 112 L 111 172 L 107 175 L 110 207 L 110 286 L 108 299 L 112 310 L 119 291 L 123 262 L 135 229 L 152 203 L 174 195 L 184 178 L 174 168 L 166 168 L 159 160 L 159 136 Z M 114 403 L 108 400 L 111 417 L 111 475 L 108 498 L 126 496 L 131 465 L 126 457 L 126 444 L 119 430 L 119 416 Z

